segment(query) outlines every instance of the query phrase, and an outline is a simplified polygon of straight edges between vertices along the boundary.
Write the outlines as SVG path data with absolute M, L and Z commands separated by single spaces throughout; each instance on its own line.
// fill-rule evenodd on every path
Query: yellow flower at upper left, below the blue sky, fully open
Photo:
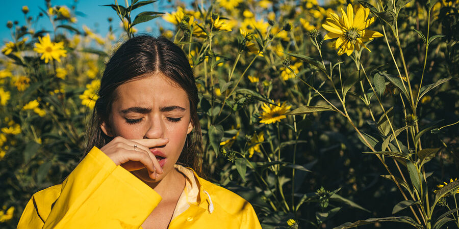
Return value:
M 61 56 L 67 56 L 67 50 L 64 49 L 64 42 L 51 42 L 49 34 L 46 37 L 39 37 L 40 43 L 35 43 L 34 51 L 42 53 L 41 60 L 45 60 L 48 63 L 49 60 L 56 60 L 61 62 Z

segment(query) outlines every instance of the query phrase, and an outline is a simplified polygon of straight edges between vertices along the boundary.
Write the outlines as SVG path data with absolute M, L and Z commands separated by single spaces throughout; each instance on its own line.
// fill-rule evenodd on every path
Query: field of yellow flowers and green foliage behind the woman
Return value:
M 141 23 L 188 56 L 207 178 L 263 228 L 459 227 L 458 0 L 102 4 L 107 34 L 53 1 L 5 24 L 0 227 L 78 164 L 105 63 Z

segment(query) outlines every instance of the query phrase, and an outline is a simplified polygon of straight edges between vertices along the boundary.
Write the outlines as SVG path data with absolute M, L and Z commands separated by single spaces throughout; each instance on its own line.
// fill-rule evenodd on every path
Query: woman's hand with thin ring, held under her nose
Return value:
M 157 173 L 162 174 L 163 169 L 149 148 L 164 146 L 167 142 L 169 142 L 167 138 L 131 140 L 117 136 L 100 150 L 107 154 L 116 165 L 121 165 L 128 171 L 146 167 L 149 177 L 156 179 Z M 136 148 L 134 148 L 135 145 L 137 145 Z

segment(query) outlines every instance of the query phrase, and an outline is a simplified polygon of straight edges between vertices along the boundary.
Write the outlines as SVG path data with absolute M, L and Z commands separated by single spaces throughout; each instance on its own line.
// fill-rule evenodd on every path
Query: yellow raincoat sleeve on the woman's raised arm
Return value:
M 54 187 L 32 196 L 17 228 L 137 229 L 162 199 L 96 147 Z

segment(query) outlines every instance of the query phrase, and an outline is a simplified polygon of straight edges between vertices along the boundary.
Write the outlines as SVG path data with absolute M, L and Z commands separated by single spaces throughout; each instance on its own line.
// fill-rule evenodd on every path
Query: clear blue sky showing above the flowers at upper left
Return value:
M 131 1 L 129 1 L 131 2 Z M 74 0 L 51 0 L 53 6 L 61 6 L 66 5 L 69 9 L 72 5 L 74 5 Z M 118 0 L 119 4 L 124 5 L 124 1 Z M 113 27 L 119 28 L 119 18 L 116 15 L 115 11 L 112 10 L 110 7 L 101 7 L 99 5 L 108 5 L 114 4 L 113 0 L 79 0 L 77 2 L 77 11 L 82 12 L 85 15 L 77 15 L 78 23 L 77 28 L 81 30 L 82 25 L 85 24 L 90 27 L 93 31 L 100 33 L 101 35 L 105 36 L 108 32 L 109 22 L 107 18 L 113 18 Z M 10 30 L 7 28 L 6 24 L 8 21 L 15 21 L 19 22 L 19 25 L 25 24 L 24 14 L 22 13 L 21 9 L 22 6 L 28 6 L 30 12 L 28 16 L 34 17 L 40 13 L 40 9 L 45 9 L 45 1 L 44 0 L 15 0 L 15 1 L 2 1 L 2 14 L 0 14 L 0 46 L 3 46 L 3 42 L 11 40 L 11 33 Z M 138 12 L 137 12 L 138 11 Z M 170 8 L 170 4 L 166 0 L 160 0 L 154 4 L 150 4 L 144 6 L 138 10 L 133 11 L 132 18 L 135 17 L 137 13 L 141 11 L 159 11 L 159 12 L 171 12 L 173 11 Z M 162 19 L 154 19 L 146 23 L 142 23 L 136 26 L 139 32 L 145 32 L 146 27 L 151 27 L 153 30 L 152 32 L 156 35 L 158 33 L 158 25 L 161 24 L 164 27 L 170 27 L 171 24 L 168 22 L 163 21 Z M 36 24 L 35 30 L 41 30 L 45 28 L 47 30 L 52 30 L 52 25 L 49 22 L 47 17 L 41 17 Z M 119 30 L 118 30 L 119 31 Z

